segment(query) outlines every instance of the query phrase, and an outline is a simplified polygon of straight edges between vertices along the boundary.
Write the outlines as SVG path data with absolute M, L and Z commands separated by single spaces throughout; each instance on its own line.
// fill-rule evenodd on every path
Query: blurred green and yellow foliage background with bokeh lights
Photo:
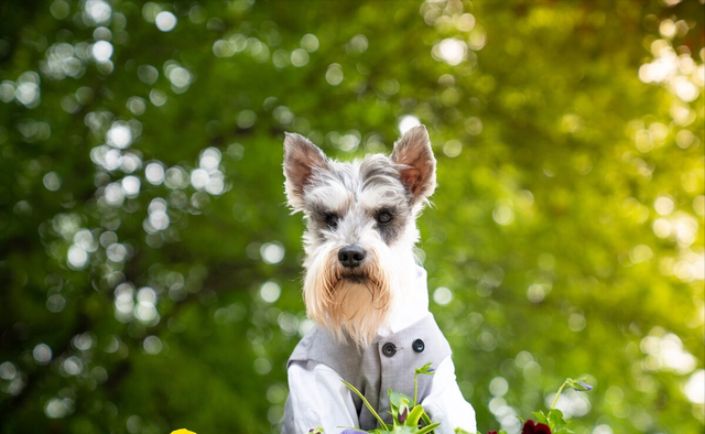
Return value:
M 704 424 L 702 0 L 0 6 L 0 431 L 278 432 L 311 326 L 284 131 L 429 127 L 478 426 Z

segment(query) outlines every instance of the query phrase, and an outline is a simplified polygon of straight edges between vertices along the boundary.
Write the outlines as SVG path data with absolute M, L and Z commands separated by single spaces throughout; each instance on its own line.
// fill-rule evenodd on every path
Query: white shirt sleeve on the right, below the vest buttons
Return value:
M 431 393 L 421 403 L 432 422 L 440 422 L 435 431 L 438 434 L 453 434 L 456 427 L 475 433 L 475 409 L 458 388 L 455 379 L 455 365 L 451 356 L 443 359 L 433 375 Z

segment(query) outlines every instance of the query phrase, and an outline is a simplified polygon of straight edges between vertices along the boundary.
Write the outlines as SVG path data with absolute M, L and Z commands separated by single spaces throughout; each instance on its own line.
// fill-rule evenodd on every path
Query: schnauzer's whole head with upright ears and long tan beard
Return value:
M 391 155 L 348 163 L 286 134 L 286 196 L 307 223 L 306 311 L 338 338 L 347 334 L 367 346 L 411 284 L 415 219 L 435 189 L 435 165 L 422 126 L 397 141 Z

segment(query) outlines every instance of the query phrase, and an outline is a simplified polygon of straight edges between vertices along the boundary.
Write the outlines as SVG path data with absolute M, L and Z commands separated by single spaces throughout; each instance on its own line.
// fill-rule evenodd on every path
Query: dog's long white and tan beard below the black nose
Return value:
M 304 301 L 308 317 L 338 340 L 347 336 L 364 348 L 375 339 L 391 308 L 390 279 L 375 250 L 368 250 L 360 267 L 347 269 L 338 261 L 337 249 L 332 249 L 307 269 Z

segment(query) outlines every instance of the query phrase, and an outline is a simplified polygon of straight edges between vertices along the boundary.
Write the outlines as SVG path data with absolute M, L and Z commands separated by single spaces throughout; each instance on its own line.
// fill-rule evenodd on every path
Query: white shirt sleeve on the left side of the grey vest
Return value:
M 325 434 L 358 427 L 357 411 L 348 388 L 329 367 L 315 361 L 289 367 L 289 399 L 296 434 L 321 426 Z

